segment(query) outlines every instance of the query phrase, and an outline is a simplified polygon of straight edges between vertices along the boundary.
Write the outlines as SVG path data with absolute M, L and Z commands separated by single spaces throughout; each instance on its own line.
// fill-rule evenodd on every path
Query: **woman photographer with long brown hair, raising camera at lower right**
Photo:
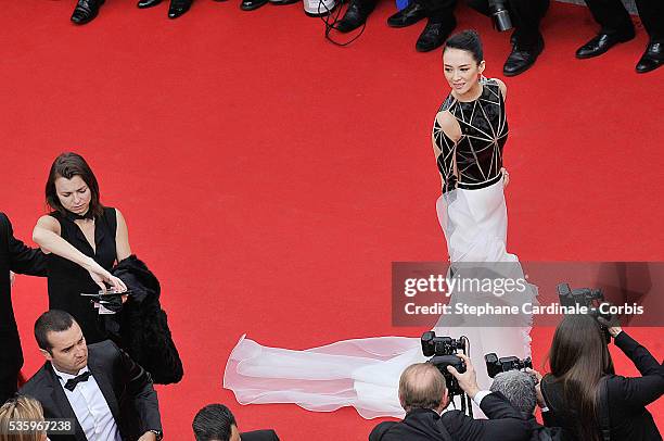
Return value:
M 615 375 L 600 324 L 641 377 Z M 621 329 L 617 319 L 565 316 L 556 329 L 549 358 L 551 374 L 540 381 L 540 399 L 548 407 L 542 417 L 546 426 L 563 428 L 565 441 L 662 439 L 646 410 L 664 393 L 662 365 Z

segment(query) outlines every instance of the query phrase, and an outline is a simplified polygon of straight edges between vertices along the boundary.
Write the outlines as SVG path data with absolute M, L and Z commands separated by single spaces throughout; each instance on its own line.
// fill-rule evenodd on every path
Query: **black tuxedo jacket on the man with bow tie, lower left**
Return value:
M 88 345 L 88 369 L 92 373 L 124 440 L 135 440 L 148 430 L 162 430 L 157 395 L 150 374 L 111 340 Z M 18 391 L 41 402 L 47 418 L 76 418 L 74 410 L 47 362 Z M 50 436 L 51 441 L 86 441 L 76 420 L 74 436 Z

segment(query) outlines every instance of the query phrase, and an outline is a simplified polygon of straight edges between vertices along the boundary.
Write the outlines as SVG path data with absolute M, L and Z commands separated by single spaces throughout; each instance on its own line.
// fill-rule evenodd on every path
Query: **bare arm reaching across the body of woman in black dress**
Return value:
M 44 253 L 53 253 L 67 261 L 74 262 L 81 266 L 88 273 L 97 285 L 102 290 L 106 290 L 104 282 L 110 284 L 119 292 L 127 290 L 125 284 L 114 277 L 98 264 L 94 259 L 89 257 L 78 251 L 76 247 L 64 240 L 60 236 L 60 223 L 53 216 L 44 215 L 37 220 L 37 225 L 33 229 L 33 240 L 37 243 Z

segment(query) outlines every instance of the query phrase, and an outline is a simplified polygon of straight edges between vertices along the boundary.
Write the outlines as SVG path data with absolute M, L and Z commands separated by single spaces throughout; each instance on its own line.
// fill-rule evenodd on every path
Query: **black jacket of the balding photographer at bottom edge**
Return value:
M 369 441 L 529 440 L 531 424 L 500 392 L 486 395 L 480 407 L 489 419 L 473 419 L 461 411 L 448 411 L 439 416 L 432 410 L 414 410 L 400 423 L 378 425 L 369 434 Z M 382 438 L 379 437 L 381 431 L 384 431 Z

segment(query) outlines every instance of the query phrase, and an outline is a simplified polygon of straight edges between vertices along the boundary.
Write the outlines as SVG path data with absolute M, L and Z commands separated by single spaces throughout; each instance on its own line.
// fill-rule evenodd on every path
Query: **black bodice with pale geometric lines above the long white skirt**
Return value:
M 443 192 L 457 187 L 484 188 L 500 180 L 508 123 L 498 83 L 483 79 L 482 94 L 471 102 L 458 101 L 449 94 L 438 110 L 444 111 L 449 111 L 459 123 L 461 138 L 455 144 L 436 117 L 433 138 L 437 147 L 438 171 L 443 176 Z

